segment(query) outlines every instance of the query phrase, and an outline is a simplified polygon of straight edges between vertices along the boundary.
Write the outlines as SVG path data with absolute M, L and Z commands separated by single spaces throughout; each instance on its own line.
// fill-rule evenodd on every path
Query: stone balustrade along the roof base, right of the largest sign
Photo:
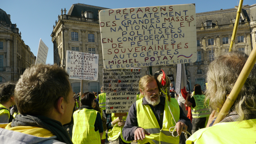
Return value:
M 252 22 L 242 22 L 239 23 L 238 26 L 249 26 L 251 24 L 256 24 L 256 20 Z M 201 30 L 214 30 L 214 29 L 224 29 L 224 28 L 231 28 L 234 27 L 234 23 L 230 24 L 221 24 L 221 25 L 215 25 L 215 26 L 203 26 L 203 27 L 197 27 L 196 31 L 201 31 Z

